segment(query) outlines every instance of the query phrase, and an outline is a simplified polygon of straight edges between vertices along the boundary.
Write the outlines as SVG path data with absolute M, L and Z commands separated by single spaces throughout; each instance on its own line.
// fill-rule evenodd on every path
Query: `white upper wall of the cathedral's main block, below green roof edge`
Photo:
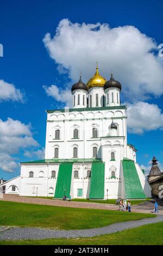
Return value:
M 59 159 L 72 159 L 73 148 L 78 148 L 79 159 L 92 158 L 92 148 L 98 148 L 98 157 L 102 158 L 101 137 L 110 136 L 110 125 L 114 119 L 117 125 L 117 137 L 124 137 L 124 155 L 127 157 L 126 109 L 102 109 L 100 111 L 82 111 L 48 113 L 45 158 L 54 158 L 54 149 L 59 148 Z M 92 129 L 98 130 L 98 138 L 92 138 Z M 55 130 L 60 130 L 60 139 L 55 139 Z M 73 139 L 73 130 L 79 130 L 79 139 Z M 118 138 L 116 139 L 118 140 Z

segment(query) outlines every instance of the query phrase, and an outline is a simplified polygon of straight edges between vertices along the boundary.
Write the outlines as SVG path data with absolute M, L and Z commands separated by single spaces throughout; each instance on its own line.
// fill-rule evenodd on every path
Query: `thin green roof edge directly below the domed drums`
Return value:
M 46 110 L 47 113 L 54 113 L 54 112 L 82 112 L 82 111 L 98 111 L 98 110 L 109 110 L 109 109 L 126 109 L 127 106 L 114 106 L 114 107 L 86 107 L 86 108 L 66 108 L 66 109 L 52 109 L 52 110 Z

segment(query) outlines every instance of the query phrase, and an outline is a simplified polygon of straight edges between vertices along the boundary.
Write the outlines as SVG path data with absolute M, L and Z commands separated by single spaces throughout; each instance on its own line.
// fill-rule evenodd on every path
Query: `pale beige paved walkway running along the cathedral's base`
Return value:
M 4 194 L 4 198 L 0 199 L 10 202 L 29 203 L 29 204 L 41 204 L 52 206 L 63 206 L 72 208 L 87 208 L 87 209 L 103 209 L 103 210 L 118 210 L 118 206 L 114 204 L 99 204 L 99 203 L 87 203 L 87 202 L 69 202 L 64 200 L 53 200 L 45 198 L 32 198 L 32 197 L 20 197 L 15 194 Z M 132 203 L 132 202 L 131 202 Z M 142 212 L 149 214 L 152 212 L 154 201 L 145 201 L 139 205 L 132 205 L 131 211 Z M 163 206 L 159 205 L 159 214 L 163 215 Z

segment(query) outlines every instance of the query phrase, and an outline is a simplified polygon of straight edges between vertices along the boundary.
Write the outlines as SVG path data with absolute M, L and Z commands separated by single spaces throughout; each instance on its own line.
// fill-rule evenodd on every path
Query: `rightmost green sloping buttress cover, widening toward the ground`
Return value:
M 126 190 L 126 199 L 145 199 L 139 175 L 132 160 L 124 159 L 122 161 L 124 186 Z

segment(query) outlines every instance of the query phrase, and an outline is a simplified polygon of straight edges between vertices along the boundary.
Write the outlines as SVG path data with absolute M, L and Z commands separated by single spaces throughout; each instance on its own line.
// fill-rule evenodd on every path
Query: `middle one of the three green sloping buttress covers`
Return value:
M 90 199 L 104 199 L 105 164 L 92 163 Z

